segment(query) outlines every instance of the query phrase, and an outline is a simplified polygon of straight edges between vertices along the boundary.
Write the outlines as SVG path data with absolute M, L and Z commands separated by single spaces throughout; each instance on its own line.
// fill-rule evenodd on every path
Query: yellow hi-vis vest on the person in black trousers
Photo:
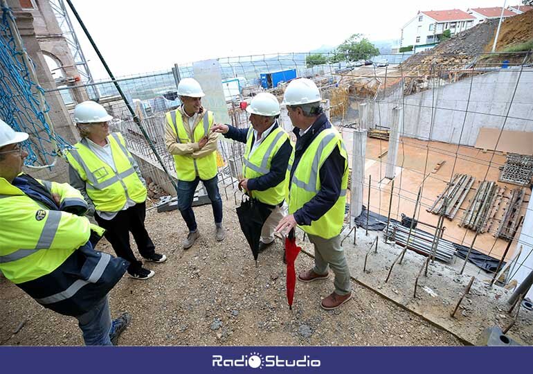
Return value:
M 146 188 L 133 167 L 132 154 L 126 149 L 123 136 L 113 132 L 107 136 L 115 170 L 102 161 L 83 143 L 69 150 L 66 159 L 85 181 L 87 195 L 97 211 L 118 212 L 129 197 L 136 203 L 146 200 Z

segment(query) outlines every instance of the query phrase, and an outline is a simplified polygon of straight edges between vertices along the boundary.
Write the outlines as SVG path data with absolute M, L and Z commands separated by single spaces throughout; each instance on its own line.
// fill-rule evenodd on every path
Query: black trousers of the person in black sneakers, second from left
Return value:
M 95 213 L 94 218 L 100 227 L 106 229 L 105 238 L 111 243 L 116 256 L 129 261 L 127 271 L 133 273 L 141 269 L 143 262 L 137 260 L 129 245 L 131 232 L 141 256 L 150 258 L 155 253 L 155 246 L 145 229 L 146 203 L 142 202 L 120 211 L 112 220 L 104 220 Z

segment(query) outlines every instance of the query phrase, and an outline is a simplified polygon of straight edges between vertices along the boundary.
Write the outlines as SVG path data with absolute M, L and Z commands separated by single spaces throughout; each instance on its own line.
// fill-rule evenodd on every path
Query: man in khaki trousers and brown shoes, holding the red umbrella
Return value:
M 296 134 L 296 146 L 289 161 L 289 215 L 276 231 L 289 233 L 295 226 L 314 244 L 315 266 L 298 274 L 302 282 L 335 274 L 335 290 L 320 303 L 336 309 L 352 297 L 350 270 L 341 247 L 348 157 L 343 139 L 320 107 L 320 92 L 312 80 L 293 80 L 285 89 L 283 104 Z

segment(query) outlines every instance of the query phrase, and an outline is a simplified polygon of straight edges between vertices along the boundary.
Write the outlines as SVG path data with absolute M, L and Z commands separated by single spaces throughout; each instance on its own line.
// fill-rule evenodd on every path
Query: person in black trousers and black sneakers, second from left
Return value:
M 105 238 L 116 255 L 129 262 L 128 275 L 145 280 L 155 272 L 137 260 L 129 244 L 129 233 L 145 260 L 161 263 L 167 257 L 156 253 L 145 229 L 145 180 L 122 134 L 109 134 L 111 119 L 105 108 L 94 101 L 84 101 L 74 108 L 74 121 L 82 139 L 66 154 L 70 183 L 84 196 L 89 215 L 94 215 L 106 229 Z

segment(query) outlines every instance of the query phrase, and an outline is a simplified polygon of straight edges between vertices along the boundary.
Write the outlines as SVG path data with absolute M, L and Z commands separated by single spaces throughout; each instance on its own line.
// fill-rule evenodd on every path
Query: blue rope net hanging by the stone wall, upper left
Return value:
M 24 47 L 17 46 L 17 40 L 20 40 L 18 30 L 12 29 L 15 18 L 10 8 L 2 6 L 1 10 L 0 118 L 15 131 L 30 134 L 23 144 L 28 152 L 24 162 L 26 166 L 53 166 L 56 157 L 71 145 L 55 134 L 53 126 L 47 121 L 46 114 L 50 108 L 44 99 L 44 90 L 31 78 L 33 66 L 26 63 Z

